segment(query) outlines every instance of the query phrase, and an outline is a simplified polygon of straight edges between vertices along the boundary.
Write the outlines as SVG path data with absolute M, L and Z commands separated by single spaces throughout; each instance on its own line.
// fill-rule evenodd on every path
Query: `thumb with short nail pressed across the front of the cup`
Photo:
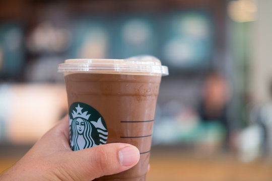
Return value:
M 99 145 L 83 150 L 66 152 L 68 163 L 64 172 L 75 180 L 92 180 L 127 170 L 138 163 L 140 152 L 137 147 L 125 143 Z

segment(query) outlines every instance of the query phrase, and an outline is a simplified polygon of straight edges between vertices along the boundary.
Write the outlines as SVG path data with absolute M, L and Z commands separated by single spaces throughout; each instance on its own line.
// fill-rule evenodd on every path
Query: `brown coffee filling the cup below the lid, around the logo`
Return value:
M 129 143 L 140 150 L 137 165 L 95 180 L 145 180 L 161 76 L 107 73 L 65 75 L 69 107 L 82 102 L 104 118 L 107 143 Z

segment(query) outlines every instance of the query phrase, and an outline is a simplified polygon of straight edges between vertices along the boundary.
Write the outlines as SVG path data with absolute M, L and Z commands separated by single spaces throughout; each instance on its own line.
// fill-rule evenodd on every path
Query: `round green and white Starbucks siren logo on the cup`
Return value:
M 105 144 L 108 131 L 103 117 L 85 103 L 73 103 L 69 109 L 70 144 L 73 151 Z

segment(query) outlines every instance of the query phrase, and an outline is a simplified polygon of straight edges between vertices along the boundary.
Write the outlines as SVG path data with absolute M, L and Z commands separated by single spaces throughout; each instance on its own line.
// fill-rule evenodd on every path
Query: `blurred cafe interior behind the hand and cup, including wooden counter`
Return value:
M 272 1 L 1 0 L 0 172 L 67 113 L 67 58 L 158 57 L 147 180 L 272 180 Z

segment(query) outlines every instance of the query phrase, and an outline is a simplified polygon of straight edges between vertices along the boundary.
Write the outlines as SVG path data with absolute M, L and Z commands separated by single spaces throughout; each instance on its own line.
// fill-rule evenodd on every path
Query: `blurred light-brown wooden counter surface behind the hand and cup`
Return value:
M 0 155 L 0 173 L 19 157 Z M 242 163 L 233 155 L 197 156 L 179 151 L 153 149 L 147 181 L 271 181 L 272 161 Z

